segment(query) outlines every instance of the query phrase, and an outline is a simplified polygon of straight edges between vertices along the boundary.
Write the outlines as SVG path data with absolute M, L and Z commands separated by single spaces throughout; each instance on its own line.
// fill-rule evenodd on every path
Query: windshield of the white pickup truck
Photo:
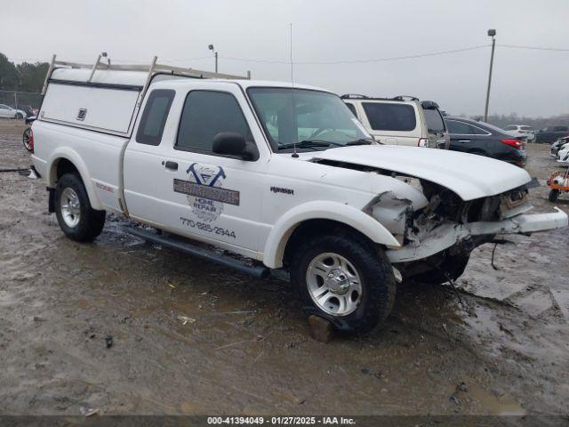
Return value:
M 305 145 L 310 149 L 328 149 L 372 140 L 333 93 L 284 87 L 252 87 L 247 93 L 275 150 L 301 142 L 312 141 Z

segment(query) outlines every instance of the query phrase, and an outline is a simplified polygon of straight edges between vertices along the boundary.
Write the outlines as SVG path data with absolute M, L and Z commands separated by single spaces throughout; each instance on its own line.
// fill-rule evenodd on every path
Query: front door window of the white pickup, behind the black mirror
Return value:
M 213 138 L 220 132 L 241 133 L 251 141 L 249 125 L 230 93 L 192 91 L 181 113 L 175 149 L 212 152 Z

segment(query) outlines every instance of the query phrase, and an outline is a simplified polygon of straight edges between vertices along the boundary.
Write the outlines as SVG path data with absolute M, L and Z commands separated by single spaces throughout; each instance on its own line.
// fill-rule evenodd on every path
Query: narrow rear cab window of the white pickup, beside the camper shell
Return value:
M 166 118 L 172 106 L 175 91 L 156 89 L 148 95 L 148 102 L 140 118 L 136 141 L 140 144 L 160 145 Z

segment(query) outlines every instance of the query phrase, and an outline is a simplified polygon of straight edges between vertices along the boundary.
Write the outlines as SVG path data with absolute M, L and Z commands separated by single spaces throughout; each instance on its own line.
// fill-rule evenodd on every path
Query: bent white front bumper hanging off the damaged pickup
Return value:
M 477 236 L 531 234 L 566 227 L 569 223 L 567 214 L 557 207 L 555 209 L 557 212 L 551 214 L 523 214 L 503 221 L 445 223 L 432 230 L 416 246 L 406 245 L 397 249 L 389 249 L 386 254 L 389 261 L 393 263 L 419 261 Z

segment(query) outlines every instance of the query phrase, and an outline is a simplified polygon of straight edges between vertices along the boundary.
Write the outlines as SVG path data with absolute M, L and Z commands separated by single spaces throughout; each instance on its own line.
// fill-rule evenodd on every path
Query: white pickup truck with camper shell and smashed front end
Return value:
M 497 235 L 567 225 L 558 209 L 526 214 L 523 169 L 377 145 L 322 89 L 156 58 L 85 67 L 54 58 L 33 125 L 33 164 L 68 238 L 124 215 L 158 230 L 133 234 L 189 254 L 289 271 L 305 310 L 343 329 L 381 325 L 397 282 L 458 278 Z

